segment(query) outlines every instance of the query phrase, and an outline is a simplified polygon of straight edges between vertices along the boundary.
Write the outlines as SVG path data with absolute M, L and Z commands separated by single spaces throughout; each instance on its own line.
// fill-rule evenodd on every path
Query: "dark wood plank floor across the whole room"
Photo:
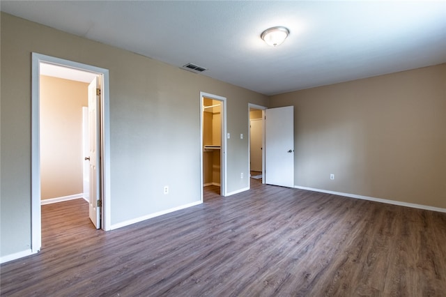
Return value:
M 231 197 L 207 190 L 108 232 L 82 199 L 43 206 L 43 249 L 1 265 L 1 295 L 446 295 L 446 213 L 254 179 Z

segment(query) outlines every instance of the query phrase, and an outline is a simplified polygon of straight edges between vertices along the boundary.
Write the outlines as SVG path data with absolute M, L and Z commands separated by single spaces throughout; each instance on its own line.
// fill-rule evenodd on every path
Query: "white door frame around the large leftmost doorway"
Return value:
M 109 70 L 83 63 L 32 53 L 31 65 L 31 252 L 42 246 L 40 213 L 40 63 L 75 68 L 102 77 L 101 155 L 102 155 L 102 229 L 111 229 L 110 208 L 110 130 L 109 130 Z

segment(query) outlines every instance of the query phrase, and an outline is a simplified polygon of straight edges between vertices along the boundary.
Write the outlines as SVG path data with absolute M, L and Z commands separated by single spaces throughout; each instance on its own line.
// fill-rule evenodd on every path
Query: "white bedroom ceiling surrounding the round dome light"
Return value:
M 266 95 L 446 62 L 446 1 L 1 1 L 1 10 Z M 286 26 L 279 47 L 260 34 Z M 45 53 L 43 53 L 45 54 Z

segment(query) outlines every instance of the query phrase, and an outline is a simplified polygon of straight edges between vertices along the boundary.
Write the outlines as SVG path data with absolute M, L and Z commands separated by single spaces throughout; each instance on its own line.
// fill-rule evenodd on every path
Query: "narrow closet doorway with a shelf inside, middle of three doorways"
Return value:
M 226 98 L 201 93 L 201 185 L 226 195 Z M 203 201 L 203 191 L 201 191 Z

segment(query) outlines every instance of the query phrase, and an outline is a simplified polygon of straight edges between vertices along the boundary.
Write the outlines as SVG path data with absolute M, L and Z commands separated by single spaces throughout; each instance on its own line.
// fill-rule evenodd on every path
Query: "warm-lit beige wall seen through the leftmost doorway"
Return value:
M 41 199 L 82 193 L 84 82 L 40 76 Z

